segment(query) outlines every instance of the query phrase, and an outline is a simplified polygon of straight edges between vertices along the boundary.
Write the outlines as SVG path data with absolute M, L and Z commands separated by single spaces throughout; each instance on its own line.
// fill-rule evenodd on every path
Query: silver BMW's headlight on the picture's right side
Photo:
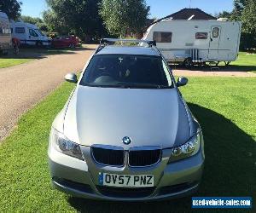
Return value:
M 177 161 L 183 158 L 189 158 L 198 153 L 201 146 L 201 132 L 192 137 L 188 142 L 180 147 L 174 147 L 172 149 L 172 155 L 169 158 L 168 163 Z

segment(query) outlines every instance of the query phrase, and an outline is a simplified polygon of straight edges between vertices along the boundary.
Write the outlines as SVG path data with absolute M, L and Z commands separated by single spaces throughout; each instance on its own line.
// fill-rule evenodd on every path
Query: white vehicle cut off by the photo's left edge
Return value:
M 12 47 L 10 23 L 7 14 L 0 11 L 0 53 L 6 53 Z

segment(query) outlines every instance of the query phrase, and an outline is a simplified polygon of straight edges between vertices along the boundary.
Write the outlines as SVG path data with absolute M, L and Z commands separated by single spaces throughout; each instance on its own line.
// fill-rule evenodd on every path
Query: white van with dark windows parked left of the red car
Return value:
M 11 21 L 12 37 L 20 39 L 20 44 L 23 45 L 36 45 L 36 46 L 49 46 L 49 37 L 41 32 L 38 26 L 30 23 L 20 21 Z

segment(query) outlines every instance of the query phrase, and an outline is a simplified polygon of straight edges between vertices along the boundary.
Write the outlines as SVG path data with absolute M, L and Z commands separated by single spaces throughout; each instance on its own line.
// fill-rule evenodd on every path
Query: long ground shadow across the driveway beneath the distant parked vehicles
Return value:
M 86 50 L 94 50 L 91 48 L 86 47 L 77 47 L 75 49 L 70 48 L 34 48 L 34 47 L 26 47 L 20 48 L 20 53 L 15 55 L 12 51 L 9 51 L 9 55 L 4 55 L 1 58 L 4 59 L 43 59 L 49 55 L 73 55 L 77 54 L 79 51 L 86 51 Z

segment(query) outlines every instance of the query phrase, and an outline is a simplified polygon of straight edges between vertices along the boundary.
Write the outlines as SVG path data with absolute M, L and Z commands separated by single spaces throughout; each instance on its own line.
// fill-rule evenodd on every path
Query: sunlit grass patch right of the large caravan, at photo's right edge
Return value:
M 241 71 L 256 73 L 256 54 L 247 55 L 247 52 L 240 52 L 238 59 L 231 62 L 231 66 Z

